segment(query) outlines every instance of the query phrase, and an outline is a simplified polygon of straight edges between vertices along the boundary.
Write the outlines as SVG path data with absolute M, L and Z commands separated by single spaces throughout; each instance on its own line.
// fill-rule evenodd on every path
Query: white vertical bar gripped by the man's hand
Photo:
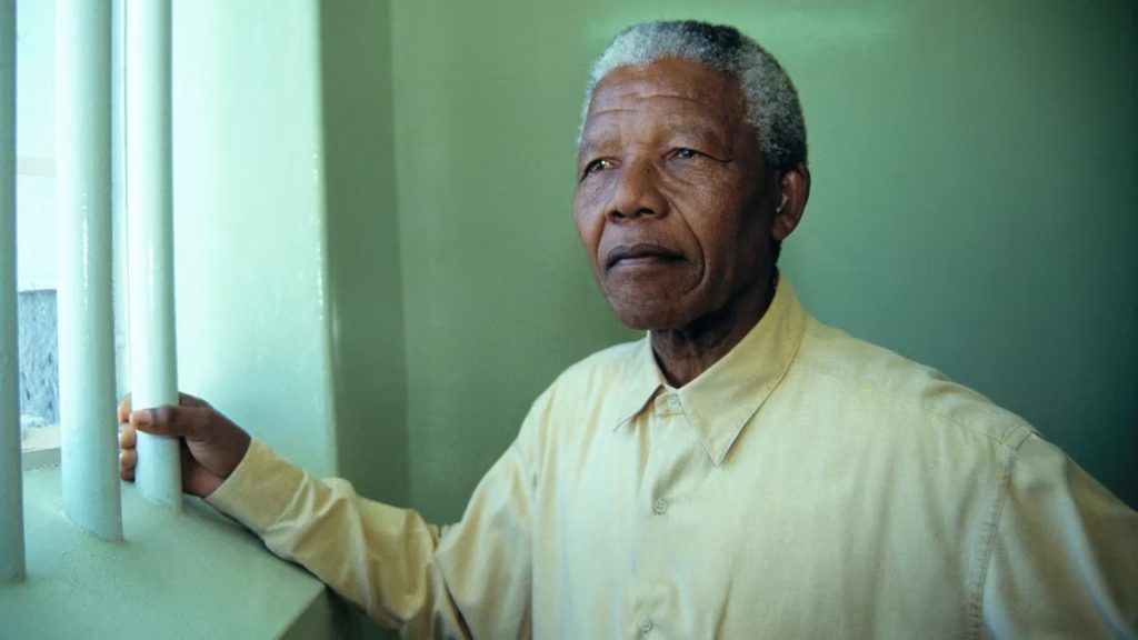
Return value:
M 170 0 L 127 0 L 126 235 L 134 409 L 178 403 L 171 178 Z M 135 481 L 147 498 L 181 509 L 175 438 L 139 434 Z

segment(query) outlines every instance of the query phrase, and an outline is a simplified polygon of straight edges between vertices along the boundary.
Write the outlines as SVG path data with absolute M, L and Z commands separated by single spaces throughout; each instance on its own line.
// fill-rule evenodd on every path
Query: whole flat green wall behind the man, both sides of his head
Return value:
M 810 310 L 1029 418 L 1121 497 L 1138 379 L 1135 6 L 396 2 L 412 503 L 460 516 L 533 397 L 630 336 L 570 222 L 587 64 L 621 27 L 729 22 L 799 85 Z

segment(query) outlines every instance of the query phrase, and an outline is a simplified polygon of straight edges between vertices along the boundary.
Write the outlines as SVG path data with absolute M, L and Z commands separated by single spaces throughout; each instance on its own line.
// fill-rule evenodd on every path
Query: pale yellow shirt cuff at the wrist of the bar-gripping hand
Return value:
M 205 501 L 262 535 L 280 519 L 306 477 L 303 469 L 253 438 L 245 458 Z

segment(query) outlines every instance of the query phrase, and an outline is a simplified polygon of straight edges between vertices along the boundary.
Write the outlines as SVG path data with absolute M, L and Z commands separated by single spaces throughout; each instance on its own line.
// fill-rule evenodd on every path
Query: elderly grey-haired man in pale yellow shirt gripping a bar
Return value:
M 1024 421 L 809 317 L 776 270 L 810 191 L 790 80 L 731 27 L 593 67 L 574 216 L 637 343 L 536 400 L 462 522 L 316 481 L 209 408 L 184 487 L 409 637 L 1123 637 L 1138 515 Z

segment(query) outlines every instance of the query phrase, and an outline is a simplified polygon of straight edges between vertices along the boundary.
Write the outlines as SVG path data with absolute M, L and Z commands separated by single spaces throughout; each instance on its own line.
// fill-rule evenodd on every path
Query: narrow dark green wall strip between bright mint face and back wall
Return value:
M 320 3 L 337 474 L 409 500 L 406 342 L 386 2 Z

